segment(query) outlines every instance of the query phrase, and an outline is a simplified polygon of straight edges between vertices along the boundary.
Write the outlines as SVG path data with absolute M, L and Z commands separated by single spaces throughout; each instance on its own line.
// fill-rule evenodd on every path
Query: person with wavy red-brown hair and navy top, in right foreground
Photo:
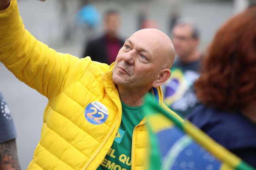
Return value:
M 188 119 L 256 168 L 256 7 L 216 33 L 194 83 L 202 103 Z

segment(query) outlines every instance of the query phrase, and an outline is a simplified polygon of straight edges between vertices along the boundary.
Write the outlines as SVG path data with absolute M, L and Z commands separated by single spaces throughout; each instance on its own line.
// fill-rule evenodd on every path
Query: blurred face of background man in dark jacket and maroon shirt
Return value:
M 105 17 L 105 31 L 108 34 L 117 34 L 120 27 L 119 14 L 108 14 Z

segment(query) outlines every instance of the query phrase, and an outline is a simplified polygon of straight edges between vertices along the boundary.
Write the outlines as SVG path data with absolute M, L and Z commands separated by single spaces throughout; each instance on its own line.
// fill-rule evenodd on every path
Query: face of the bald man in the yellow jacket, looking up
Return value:
M 135 33 L 127 39 L 115 60 L 114 83 L 129 88 L 152 87 L 160 70 L 157 48 L 157 43 L 145 35 Z

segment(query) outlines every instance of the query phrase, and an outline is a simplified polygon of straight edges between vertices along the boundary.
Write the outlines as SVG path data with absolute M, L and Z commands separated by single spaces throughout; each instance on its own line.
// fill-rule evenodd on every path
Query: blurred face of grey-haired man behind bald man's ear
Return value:
M 190 25 L 178 25 L 173 28 L 172 42 L 176 54 L 183 59 L 187 58 L 198 45 L 198 40 L 192 38 L 192 28 Z

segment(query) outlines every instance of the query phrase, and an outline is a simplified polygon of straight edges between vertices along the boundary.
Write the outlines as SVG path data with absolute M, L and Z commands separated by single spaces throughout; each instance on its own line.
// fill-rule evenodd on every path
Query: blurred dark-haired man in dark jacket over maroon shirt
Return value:
M 108 10 L 104 15 L 104 35 L 89 41 L 82 57 L 90 56 L 93 61 L 110 65 L 116 59 L 124 41 L 118 37 L 120 15 L 116 10 Z

